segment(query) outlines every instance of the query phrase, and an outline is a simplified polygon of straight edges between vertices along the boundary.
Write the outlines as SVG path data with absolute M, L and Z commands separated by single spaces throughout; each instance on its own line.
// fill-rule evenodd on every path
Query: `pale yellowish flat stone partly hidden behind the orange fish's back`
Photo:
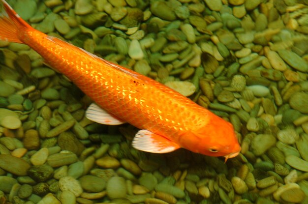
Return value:
M 170 81 L 165 83 L 165 85 L 175 91 L 178 91 L 184 96 L 190 96 L 196 91 L 196 87 L 194 86 L 194 84 L 187 81 Z

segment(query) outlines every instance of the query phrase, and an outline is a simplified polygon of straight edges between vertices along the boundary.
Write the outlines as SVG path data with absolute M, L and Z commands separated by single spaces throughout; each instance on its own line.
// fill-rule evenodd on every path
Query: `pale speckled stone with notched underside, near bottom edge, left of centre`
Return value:
M 59 188 L 62 191 L 70 191 L 76 197 L 79 197 L 83 192 L 82 187 L 78 180 L 71 176 L 64 176 L 59 179 Z

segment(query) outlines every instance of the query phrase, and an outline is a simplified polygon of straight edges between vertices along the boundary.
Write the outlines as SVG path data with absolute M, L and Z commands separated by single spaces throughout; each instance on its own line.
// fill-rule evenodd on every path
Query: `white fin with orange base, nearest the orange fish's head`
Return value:
M 178 144 L 148 130 L 139 130 L 134 137 L 132 146 L 152 153 L 167 153 L 181 148 Z

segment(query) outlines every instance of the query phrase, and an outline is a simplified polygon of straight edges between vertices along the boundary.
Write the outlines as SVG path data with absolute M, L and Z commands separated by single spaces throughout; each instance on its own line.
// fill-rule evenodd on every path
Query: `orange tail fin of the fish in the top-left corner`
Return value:
M 25 28 L 31 26 L 5 0 L 0 0 L 0 40 L 23 43 L 18 36 Z

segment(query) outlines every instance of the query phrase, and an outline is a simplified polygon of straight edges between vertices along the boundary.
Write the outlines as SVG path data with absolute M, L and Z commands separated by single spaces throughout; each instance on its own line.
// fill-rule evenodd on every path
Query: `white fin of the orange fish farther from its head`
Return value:
M 104 125 L 121 125 L 125 123 L 119 117 L 109 114 L 96 103 L 92 103 L 86 111 L 86 117 L 94 122 Z

